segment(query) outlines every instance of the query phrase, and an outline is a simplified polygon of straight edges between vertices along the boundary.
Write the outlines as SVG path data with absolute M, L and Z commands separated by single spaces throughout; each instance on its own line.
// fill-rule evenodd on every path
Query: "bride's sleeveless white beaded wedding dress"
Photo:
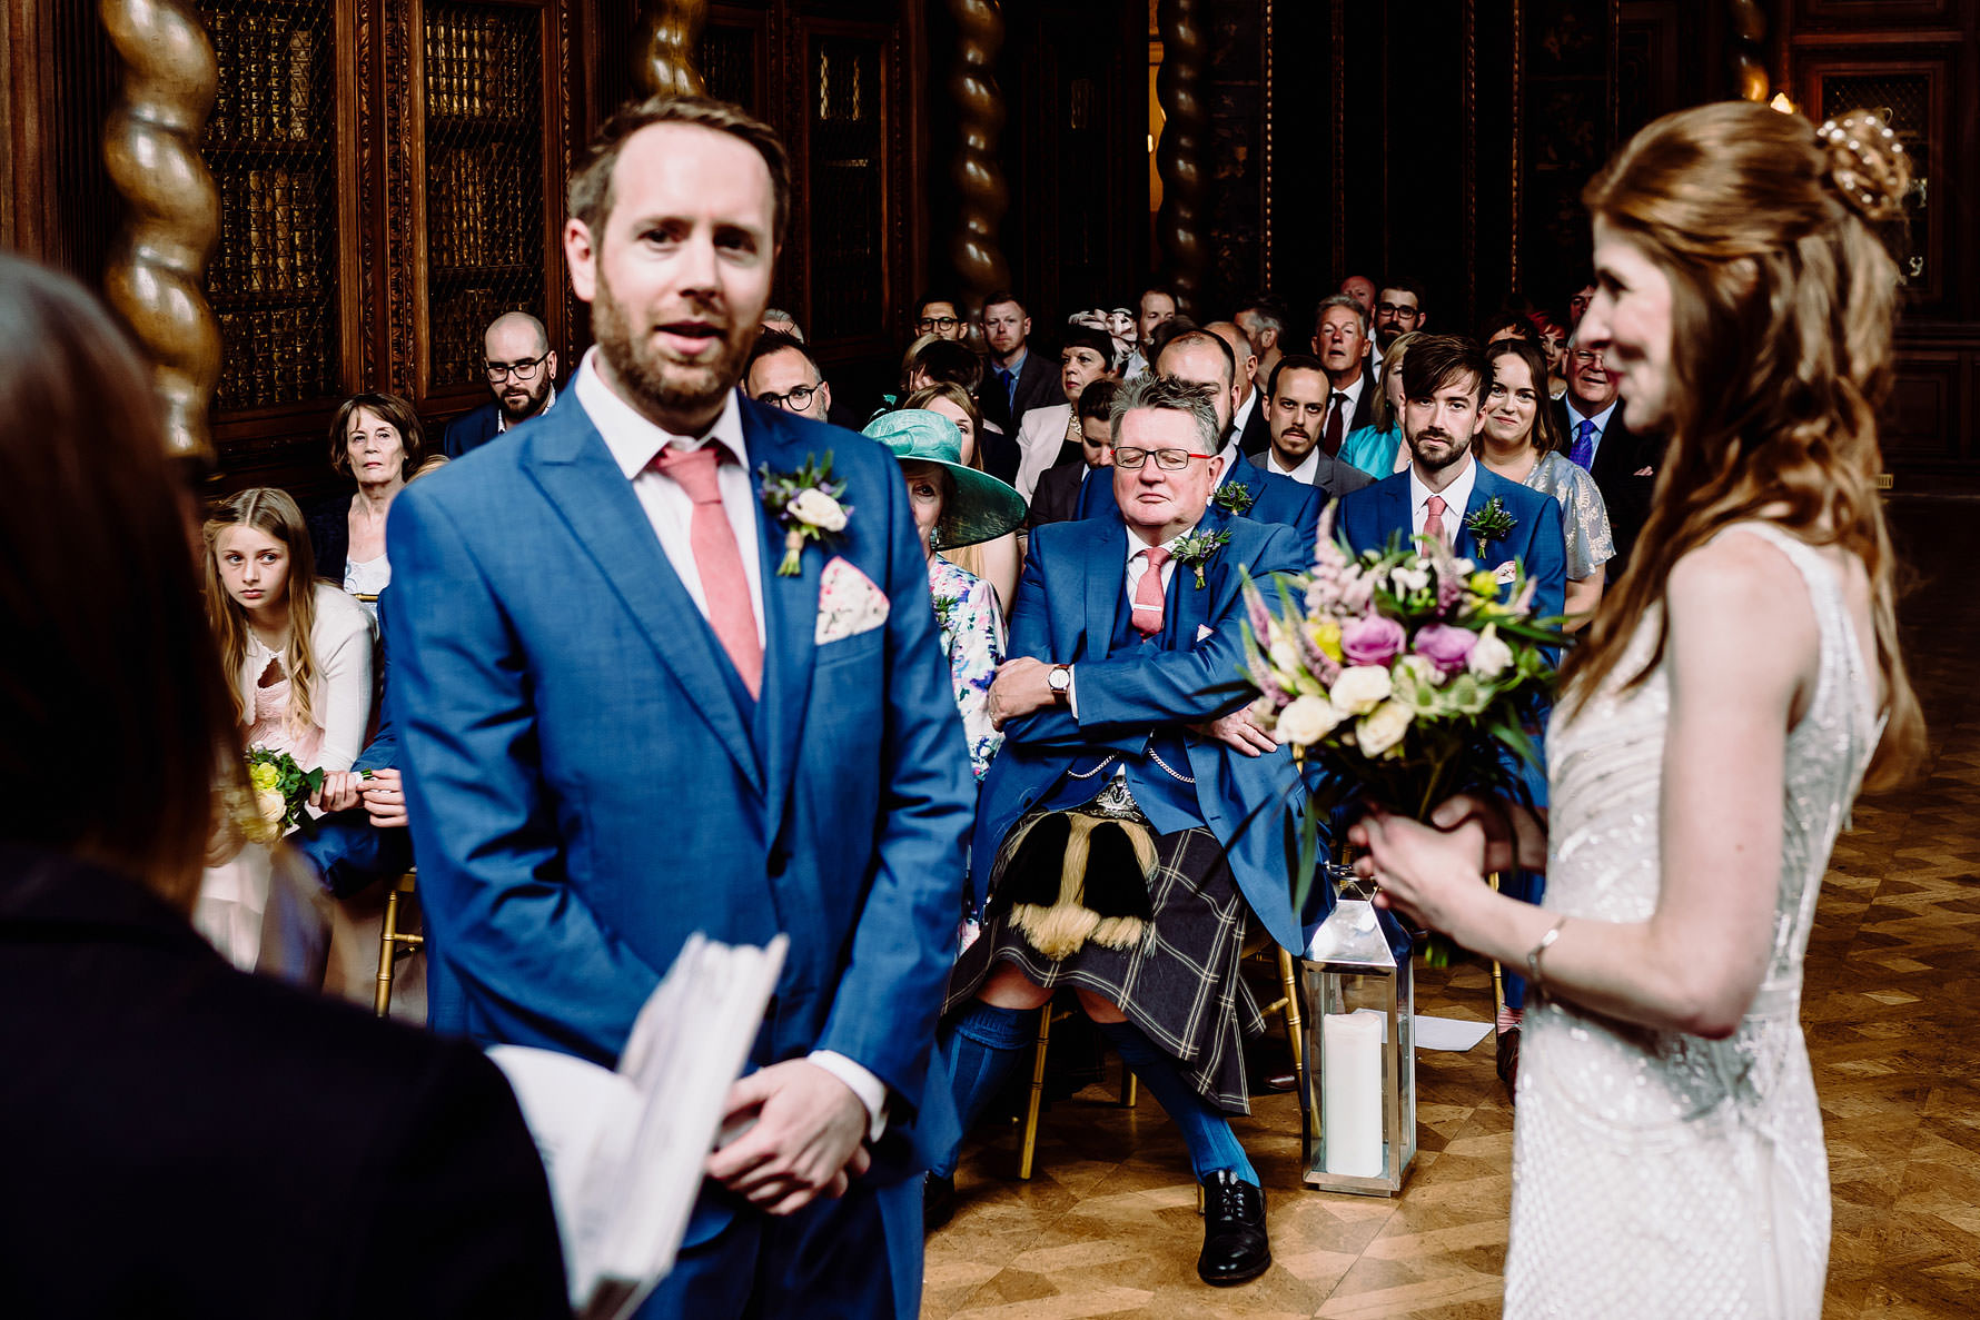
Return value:
M 1527 1011 L 1505 1271 L 1513 1320 L 1822 1314 L 1830 1172 L 1800 1025 L 1802 956 L 1881 726 L 1835 570 L 1772 524 L 1738 530 L 1800 570 L 1822 645 L 1814 701 L 1788 736 L 1766 976 L 1725 1041 L 1570 1003 Z M 1552 912 L 1641 922 L 1657 906 L 1665 663 L 1618 691 L 1653 647 L 1651 613 L 1618 681 L 1548 730 Z

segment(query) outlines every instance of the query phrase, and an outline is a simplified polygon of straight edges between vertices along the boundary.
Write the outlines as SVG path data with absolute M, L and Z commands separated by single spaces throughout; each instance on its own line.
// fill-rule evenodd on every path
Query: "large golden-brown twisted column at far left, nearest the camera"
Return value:
M 200 158 L 200 131 L 214 107 L 214 47 L 178 0 L 101 0 L 97 12 L 125 65 L 103 164 L 131 210 L 103 291 L 150 354 L 166 449 L 212 461 L 220 327 L 206 303 L 206 259 L 220 236 L 220 194 Z

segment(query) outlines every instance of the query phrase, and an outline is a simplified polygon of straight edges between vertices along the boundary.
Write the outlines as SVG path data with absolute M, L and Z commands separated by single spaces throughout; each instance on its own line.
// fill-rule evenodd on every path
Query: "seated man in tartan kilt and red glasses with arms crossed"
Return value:
M 1073 988 L 1188 1142 L 1198 1273 L 1236 1284 L 1271 1265 L 1265 1197 L 1226 1118 L 1249 1112 L 1241 1033 L 1263 1029 L 1238 960 L 1249 924 L 1297 948 L 1299 922 L 1277 811 L 1291 756 L 1230 683 L 1241 570 L 1263 580 L 1307 556 L 1289 528 L 1210 509 L 1208 388 L 1142 376 L 1111 431 L 1119 513 L 1038 528 L 1018 586 L 990 689 L 1006 742 L 972 851 L 990 904 L 939 1047 L 966 1128 L 1038 1039 L 1040 1005 Z M 931 1207 L 952 1172 L 950 1156 L 931 1176 Z

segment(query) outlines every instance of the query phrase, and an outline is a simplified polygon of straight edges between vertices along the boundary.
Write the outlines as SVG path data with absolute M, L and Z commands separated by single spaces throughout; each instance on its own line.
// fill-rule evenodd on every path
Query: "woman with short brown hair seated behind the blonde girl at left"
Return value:
M 309 511 L 309 544 L 317 576 L 356 596 L 372 617 L 378 617 L 378 592 L 392 582 L 384 519 L 424 453 L 420 418 L 396 394 L 354 394 L 331 420 L 331 467 L 354 477 L 358 489 Z

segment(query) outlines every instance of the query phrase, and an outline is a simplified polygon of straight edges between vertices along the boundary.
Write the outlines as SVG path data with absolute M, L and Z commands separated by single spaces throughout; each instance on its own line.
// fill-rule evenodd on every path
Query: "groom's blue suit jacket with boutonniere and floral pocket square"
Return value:
M 893 455 L 741 402 L 750 467 L 832 455 L 845 532 L 776 576 L 758 507 L 756 716 L 582 406 L 394 501 L 394 716 L 430 950 L 477 1041 L 610 1065 L 689 934 L 788 932 L 750 1055 L 838 1051 L 889 1086 L 875 1179 L 958 1136 L 931 1045 L 976 801 L 927 562 Z M 818 645 L 820 572 L 891 610 Z M 689 1243 L 733 1217 L 703 1195 Z M 917 1255 L 919 1259 L 919 1255 Z

